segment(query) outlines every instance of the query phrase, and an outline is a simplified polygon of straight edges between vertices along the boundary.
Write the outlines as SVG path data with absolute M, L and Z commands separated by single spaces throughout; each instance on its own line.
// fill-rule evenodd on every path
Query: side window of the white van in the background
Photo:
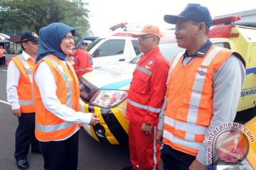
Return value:
M 122 55 L 124 53 L 124 45 L 125 40 L 107 40 L 93 52 L 92 57 Z

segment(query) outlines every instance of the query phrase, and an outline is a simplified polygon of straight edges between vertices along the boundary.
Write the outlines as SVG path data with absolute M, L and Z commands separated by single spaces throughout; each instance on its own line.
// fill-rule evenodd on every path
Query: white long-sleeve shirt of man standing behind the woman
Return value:
M 22 56 L 26 61 L 32 58 L 25 51 L 22 52 Z M 18 103 L 18 91 L 17 91 L 18 82 L 20 78 L 21 78 L 21 72 L 19 71 L 14 61 L 11 60 L 9 62 L 9 66 L 7 69 L 6 93 L 7 93 L 7 101 L 11 103 L 12 110 L 21 108 L 20 104 Z

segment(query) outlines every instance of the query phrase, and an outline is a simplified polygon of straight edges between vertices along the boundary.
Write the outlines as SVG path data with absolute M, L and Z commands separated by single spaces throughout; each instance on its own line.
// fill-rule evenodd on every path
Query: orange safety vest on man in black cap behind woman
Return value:
M 36 63 L 32 60 L 24 60 L 22 55 L 12 57 L 7 62 L 7 67 L 10 61 L 16 64 L 16 67 L 21 72 L 21 78 L 18 81 L 18 103 L 21 106 L 21 113 L 33 113 L 36 111 L 33 101 L 33 70 L 36 67 Z

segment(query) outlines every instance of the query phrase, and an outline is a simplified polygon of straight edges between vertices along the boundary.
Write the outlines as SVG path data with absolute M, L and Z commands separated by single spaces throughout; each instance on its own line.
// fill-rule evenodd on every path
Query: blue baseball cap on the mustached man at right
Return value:
M 201 6 L 200 4 L 188 4 L 178 16 L 165 15 L 164 21 L 166 21 L 166 23 L 176 24 L 177 18 L 192 19 L 194 21 L 203 22 L 209 28 L 213 23 L 213 19 L 210 16 L 208 8 Z

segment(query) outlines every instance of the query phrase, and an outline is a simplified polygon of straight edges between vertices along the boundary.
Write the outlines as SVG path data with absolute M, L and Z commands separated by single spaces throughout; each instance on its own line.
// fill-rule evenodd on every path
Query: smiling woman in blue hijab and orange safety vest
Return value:
M 78 78 L 67 60 L 74 35 L 75 29 L 64 23 L 51 23 L 39 31 L 33 92 L 35 133 L 45 169 L 77 169 L 80 123 L 96 125 L 100 121 L 94 113 L 79 111 Z

